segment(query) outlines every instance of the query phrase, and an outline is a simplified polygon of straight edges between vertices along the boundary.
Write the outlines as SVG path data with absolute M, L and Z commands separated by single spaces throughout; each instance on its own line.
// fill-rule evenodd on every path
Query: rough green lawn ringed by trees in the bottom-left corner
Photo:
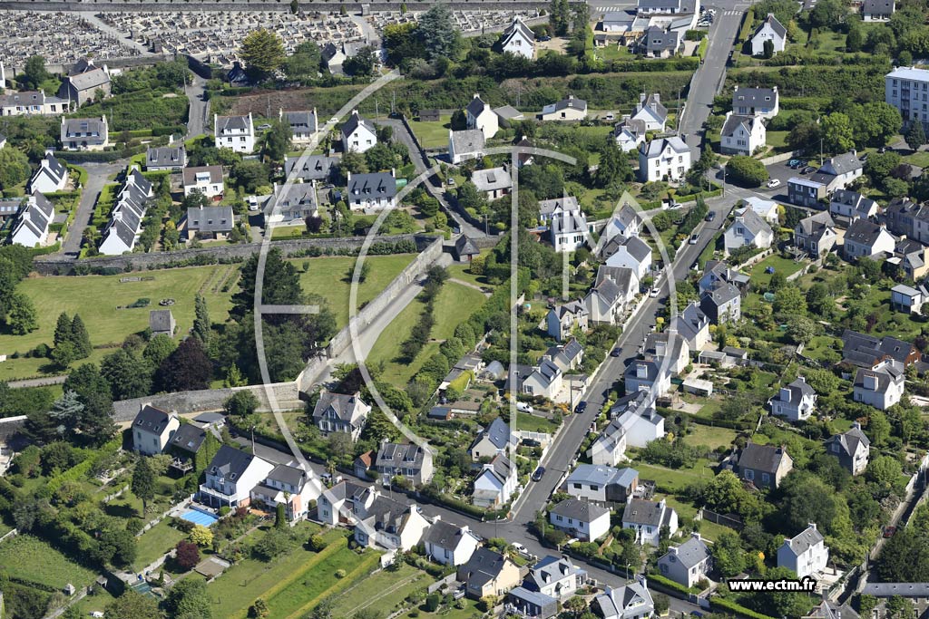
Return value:
M 0 565 L 11 576 L 61 589 L 68 583 L 86 587 L 95 573 L 33 535 L 17 535 L 0 544 Z

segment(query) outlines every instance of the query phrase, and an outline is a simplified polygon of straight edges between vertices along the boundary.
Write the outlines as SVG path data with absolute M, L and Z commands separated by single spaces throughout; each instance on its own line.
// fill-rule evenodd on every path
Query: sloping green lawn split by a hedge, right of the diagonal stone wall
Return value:
M 368 365 L 383 362 L 385 369 L 381 378 L 391 384 L 405 385 L 419 371 L 426 359 L 438 352 L 439 341 L 451 338 L 455 327 L 471 316 L 485 300 L 486 297 L 478 290 L 452 281 L 445 282 L 433 309 L 436 318 L 431 333 L 433 342 L 427 343 L 412 363 L 399 359 L 400 344 L 410 336 L 413 325 L 419 322 L 423 313 L 423 303 L 418 299 L 413 300 L 393 319 L 389 329 L 381 333 L 377 342 L 374 342 L 368 355 Z

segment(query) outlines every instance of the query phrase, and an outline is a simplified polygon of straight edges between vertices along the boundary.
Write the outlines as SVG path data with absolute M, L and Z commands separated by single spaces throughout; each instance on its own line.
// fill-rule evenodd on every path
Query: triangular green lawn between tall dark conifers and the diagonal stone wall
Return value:
M 386 256 L 366 256 L 364 263 L 371 263 L 371 272 L 364 283 L 359 284 L 358 307 L 371 301 L 386 285 L 399 275 L 413 259 L 411 253 L 399 253 Z M 354 257 L 326 257 L 295 259 L 291 261 L 298 270 L 304 263 L 309 264 L 306 272 L 300 273 L 300 285 L 303 290 L 319 294 L 329 302 L 335 315 L 336 326 L 342 329 L 348 324 L 348 296 L 351 290 L 351 277 L 357 261 Z

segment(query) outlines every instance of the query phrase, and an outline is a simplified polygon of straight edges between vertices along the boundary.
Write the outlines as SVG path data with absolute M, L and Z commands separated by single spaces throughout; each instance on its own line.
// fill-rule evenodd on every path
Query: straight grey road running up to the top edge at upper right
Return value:
M 726 3 L 727 4 L 727 3 Z M 693 149 L 694 157 L 700 156 L 700 142 L 703 123 L 713 110 L 713 97 L 726 74 L 726 60 L 729 50 L 739 34 L 742 8 L 724 8 L 716 10 L 716 19 L 710 28 L 710 45 L 706 58 L 691 82 L 687 94 L 687 109 L 680 123 L 680 133 L 685 136 L 687 146 Z

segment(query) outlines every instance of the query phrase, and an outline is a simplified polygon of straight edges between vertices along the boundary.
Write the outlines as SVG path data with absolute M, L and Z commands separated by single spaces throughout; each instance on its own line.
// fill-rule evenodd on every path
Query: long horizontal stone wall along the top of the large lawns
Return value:
M 322 251 L 358 250 L 364 237 L 340 237 L 335 239 L 289 239 L 271 241 L 272 248 L 280 249 L 285 256 L 299 255 L 313 248 Z M 375 243 L 396 243 L 400 240 L 412 240 L 416 249 L 423 251 L 436 239 L 423 234 L 399 234 L 377 237 Z M 241 245 L 221 245 L 203 247 L 195 250 L 156 251 L 151 253 L 129 253 L 122 256 L 89 258 L 86 260 L 68 260 L 56 254 L 39 256 L 33 261 L 33 268 L 41 275 L 72 275 L 77 265 L 93 269 L 115 269 L 118 271 L 144 271 L 157 266 L 171 264 L 183 265 L 187 261 L 196 261 L 203 256 L 203 264 L 217 262 L 236 262 L 248 258 L 261 248 L 261 243 L 242 243 Z

